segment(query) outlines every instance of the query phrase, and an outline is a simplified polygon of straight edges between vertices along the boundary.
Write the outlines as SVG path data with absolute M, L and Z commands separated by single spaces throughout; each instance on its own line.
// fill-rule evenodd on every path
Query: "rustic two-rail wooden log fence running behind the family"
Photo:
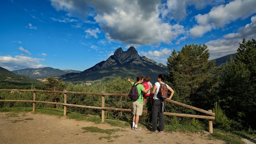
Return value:
M 41 90 L 7 90 L 7 89 L 0 89 L 0 91 L 10 91 L 10 92 L 33 92 L 33 100 L 0 100 L 0 101 L 8 101 L 8 102 L 33 102 L 33 111 L 35 111 L 36 103 L 47 103 L 47 104 L 55 104 L 55 105 L 63 105 L 64 106 L 64 116 L 67 115 L 67 106 L 71 107 L 80 107 L 80 108 L 93 108 L 93 109 L 101 109 L 101 122 L 104 122 L 105 119 L 105 110 L 117 110 L 117 111 L 127 111 L 132 112 L 131 109 L 124 109 L 124 108 L 108 108 L 105 107 L 105 96 L 124 96 L 127 97 L 128 94 L 118 94 L 118 93 L 92 93 L 92 92 L 69 92 L 69 91 L 41 91 Z M 36 100 L 36 92 L 48 92 L 48 93 L 64 93 L 64 103 L 59 102 L 47 102 L 47 101 L 37 101 Z M 92 107 L 92 106 L 83 106 L 83 105 L 74 105 L 74 104 L 67 104 L 67 93 L 73 93 L 73 94 L 90 94 L 90 95 L 101 95 L 102 98 L 102 104 L 101 107 Z M 209 132 L 212 133 L 212 120 L 215 120 L 215 113 L 212 113 L 212 110 L 203 110 L 200 108 L 192 107 L 174 100 L 167 100 L 168 102 L 190 108 L 199 112 L 202 112 L 204 114 L 207 114 L 208 116 L 199 116 L 199 115 L 188 115 L 188 114 L 177 114 L 177 113 L 166 113 L 164 112 L 164 115 L 168 116 L 183 116 L 183 117 L 192 117 L 192 118 L 202 118 L 202 119 L 208 119 L 209 124 Z M 151 111 L 143 110 L 142 113 L 148 113 L 150 114 Z

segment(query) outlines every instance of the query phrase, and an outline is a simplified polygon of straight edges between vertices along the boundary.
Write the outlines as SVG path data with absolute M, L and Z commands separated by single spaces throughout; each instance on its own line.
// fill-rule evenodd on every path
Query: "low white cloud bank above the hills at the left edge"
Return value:
M 24 68 L 43 68 L 46 65 L 39 64 L 44 59 L 31 58 L 26 56 L 0 56 L 0 66 L 10 71 Z

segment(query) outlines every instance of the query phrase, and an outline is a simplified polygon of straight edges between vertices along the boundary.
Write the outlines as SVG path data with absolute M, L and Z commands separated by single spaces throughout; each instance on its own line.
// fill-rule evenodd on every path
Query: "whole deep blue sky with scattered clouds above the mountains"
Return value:
M 256 0 L 1 0 L 0 67 L 85 70 L 130 46 L 166 65 L 206 44 L 210 59 L 256 39 Z

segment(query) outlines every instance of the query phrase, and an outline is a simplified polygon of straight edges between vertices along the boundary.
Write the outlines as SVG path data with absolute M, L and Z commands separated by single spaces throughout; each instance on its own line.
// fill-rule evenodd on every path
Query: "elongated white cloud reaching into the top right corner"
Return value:
M 255 7 L 255 0 L 235 0 L 213 7 L 209 13 L 195 16 L 197 25 L 190 29 L 190 36 L 192 38 L 200 37 L 212 29 L 224 27 L 238 19 L 246 19 L 256 13 Z

